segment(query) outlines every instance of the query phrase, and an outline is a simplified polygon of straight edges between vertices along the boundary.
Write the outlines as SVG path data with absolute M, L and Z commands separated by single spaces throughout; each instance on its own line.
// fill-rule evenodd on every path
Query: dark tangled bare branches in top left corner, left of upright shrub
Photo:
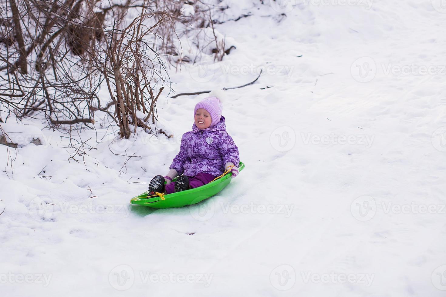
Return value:
M 19 118 L 42 112 L 50 126 L 91 122 L 85 119 L 93 118 L 89 106 L 101 83 L 90 63 L 100 53 L 91 45 L 102 23 L 84 7 L 100 1 L 0 2 L 0 104 Z M 76 51 L 79 36 L 83 50 Z

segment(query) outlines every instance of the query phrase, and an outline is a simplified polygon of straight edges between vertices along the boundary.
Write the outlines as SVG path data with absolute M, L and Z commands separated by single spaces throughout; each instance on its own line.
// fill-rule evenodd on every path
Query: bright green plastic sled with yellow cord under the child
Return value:
M 242 171 L 245 164 L 240 162 L 239 171 Z M 175 181 L 176 179 L 173 179 Z M 130 200 L 132 204 L 145 205 L 153 208 L 169 208 L 169 207 L 183 207 L 185 205 L 190 205 L 198 203 L 206 198 L 209 198 L 219 191 L 223 190 L 231 182 L 231 172 L 223 175 L 221 178 L 214 180 L 211 183 L 205 184 L 201 187 L 181 191 L 178 193 L 166 194 L 164 195 L 165 200 L 161 197 L 151 197 L 146 198 L 149 191 L 142 193 Z

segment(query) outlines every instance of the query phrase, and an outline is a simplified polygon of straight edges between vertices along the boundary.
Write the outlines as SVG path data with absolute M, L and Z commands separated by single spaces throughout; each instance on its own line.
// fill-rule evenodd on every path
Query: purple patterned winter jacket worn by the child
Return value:
M 222 175 L 227 162 L 239 166 L 239 149 L 226 132 L 225 118 L 214 126 L 215 131 L 199 130 L 192 126 L 181 138 L 180 152 L 173 158 L 169 169 L 175 169 L 178 175 L 193 177 L 204 172 L 214 176 Z M 194 130 L 197 131 L 194 133 Z

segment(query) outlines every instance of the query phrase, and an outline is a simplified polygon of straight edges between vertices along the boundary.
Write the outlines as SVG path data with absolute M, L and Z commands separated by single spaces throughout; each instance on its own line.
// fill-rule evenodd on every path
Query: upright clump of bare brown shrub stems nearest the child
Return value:
M 145 25 L 155 16 L 154 25 Z M 147 120 L 152 117 L 153 124 L 157 121 L 156 102 L 165 87 L 162 86 L 155 97 L 152 85 L 159 82 L 164 84 L 167 71 L 157 51 L 147 43 L 146 36 L 156 38 L 153 29 L 171 21 L 172 17 L 175 16 L 166 12 L 145 13 L 143 9 L 143 13 L 124 29 L 105 34 L 107 43 L 102 49 L 106 53 L 106 61 L 95 59 L 95 62 L 103 69 L 108 92 L 115 105 L 121 138 L 130 137 L 130 125 L 134 127 L 133 132 L 136 132 L 137 126 L 152 130 Z M 115 90 L 112 86 L 115 86 Z M 138 115 L 140 113 L 147 114 L 144 120 Z

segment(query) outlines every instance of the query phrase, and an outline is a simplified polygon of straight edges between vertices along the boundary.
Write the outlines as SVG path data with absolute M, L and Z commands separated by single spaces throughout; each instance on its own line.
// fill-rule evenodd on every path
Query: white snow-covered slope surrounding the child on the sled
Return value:
M 111 142 L 98 114 L 78 162 L 59 131 L 0 145 L 3 296 L 445 296 L 446 6 L 285 2 L 224 0 L 252 13 L 216 27 L 236 49 L 170 73 L 182 93 L 263 69 L 227 91 L 246 168 L 219 195 L 129 205 L 203 96 L 159 103 L 169 140 Z

